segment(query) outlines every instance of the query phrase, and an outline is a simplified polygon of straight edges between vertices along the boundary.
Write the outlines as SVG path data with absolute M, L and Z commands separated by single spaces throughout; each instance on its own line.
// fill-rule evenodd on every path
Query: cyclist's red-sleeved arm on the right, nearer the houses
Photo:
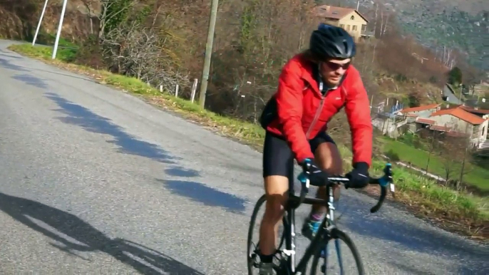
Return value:
M 346 94 L 345 111 L 351 130 L 353 163 L 372 163 L 372 139 L 374 130 L 370 118 L 369 96 L 366 93 L 360 73 L 351 70 L 351 85 Z

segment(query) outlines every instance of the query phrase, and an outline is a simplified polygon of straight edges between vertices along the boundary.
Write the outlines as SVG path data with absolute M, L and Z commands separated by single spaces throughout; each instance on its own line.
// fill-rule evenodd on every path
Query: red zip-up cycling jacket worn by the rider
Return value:
M 326 123 L 344 107 L 351 130 L 353 163 L 371 166 L 373 128 L 369 98 L 359 71 L 349 66 L 339 88 L 323 96 L 312 65 L 299 53 L 284 66 L 274 95 L 277 111 L 266 129 L 284 136 L 300 163 L 314 157 L 308 140 L 325 131 Z

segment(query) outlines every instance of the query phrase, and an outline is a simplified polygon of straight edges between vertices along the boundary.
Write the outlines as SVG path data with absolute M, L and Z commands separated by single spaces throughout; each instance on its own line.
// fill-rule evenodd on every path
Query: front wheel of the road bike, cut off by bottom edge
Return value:
M 346 244 L 346 248 L 348 249 L 342 250 L 341 242 Z M 332 249 L 333 247 L 335 248 L 334 251 Z M 330 251 L 331 254 L 329 253 Z M 344 254 L 343 252 L 348 251 L 351 251 L 351 256 L 353 257 L 348 256 L 348 258 L 352 259 L 347 259 L 346 261 L 344 261 L 344 256 L 346 254 Z M 336 256 L 338 267 L 331 269 L 331 263 L 334 261 L 333 256 Z M 319 263 L 321 259 L 323 259 L 324 261 L 320 265 Z M 361 262 L 358 249 L 356 249 L 356 246 L 350 239 L 350 237 L 339 229 L 331 229 L 331 239 L 328 240 L 326 249 L 321 249 L 320 251 L 318 251 L 318 253 L 314 255 L 311 266 L 311 275 L 319 274 L 365 274 L 364 264 Z

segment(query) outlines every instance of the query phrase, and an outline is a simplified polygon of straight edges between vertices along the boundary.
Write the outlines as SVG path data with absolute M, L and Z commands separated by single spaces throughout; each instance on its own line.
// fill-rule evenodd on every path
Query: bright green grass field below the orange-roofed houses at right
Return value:
M 426 169 L 429 152 L 425 150 L 419 150 L 403 142 L 391 139 L 385 139 L 384 150 L 386 152 L 389 150 L 395 152 L 403 162 L 411 162 L 416 167 L 423 170 Z M 460 177 L 460 167 L 461 165 L 451 166 L 451 169 L 453 169 L 451 178 L 458 179 Z M 480 190 L 489 191 L 489 170 L 477 165 L 471 165 L 470 163 L 465 163 L 464 170 L 467 171 L 467 174 L 463 176 L 464 182 L 478 187 Z M 446 169 L 443 158 L 432 153 L 428 164 L 428 172 L 445 177 Z

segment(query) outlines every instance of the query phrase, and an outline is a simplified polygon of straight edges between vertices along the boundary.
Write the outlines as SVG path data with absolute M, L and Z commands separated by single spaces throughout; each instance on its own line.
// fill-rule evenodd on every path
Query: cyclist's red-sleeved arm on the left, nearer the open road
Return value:
M 299 75 L 301 69 L 294 62 L 287 63 L 279 76 L 277 89 L 277 113 L 279 124 L 292 152 L 301 163 L 314 157 L 306 134 L 302 129 L 302 89 L 304 81 Z

